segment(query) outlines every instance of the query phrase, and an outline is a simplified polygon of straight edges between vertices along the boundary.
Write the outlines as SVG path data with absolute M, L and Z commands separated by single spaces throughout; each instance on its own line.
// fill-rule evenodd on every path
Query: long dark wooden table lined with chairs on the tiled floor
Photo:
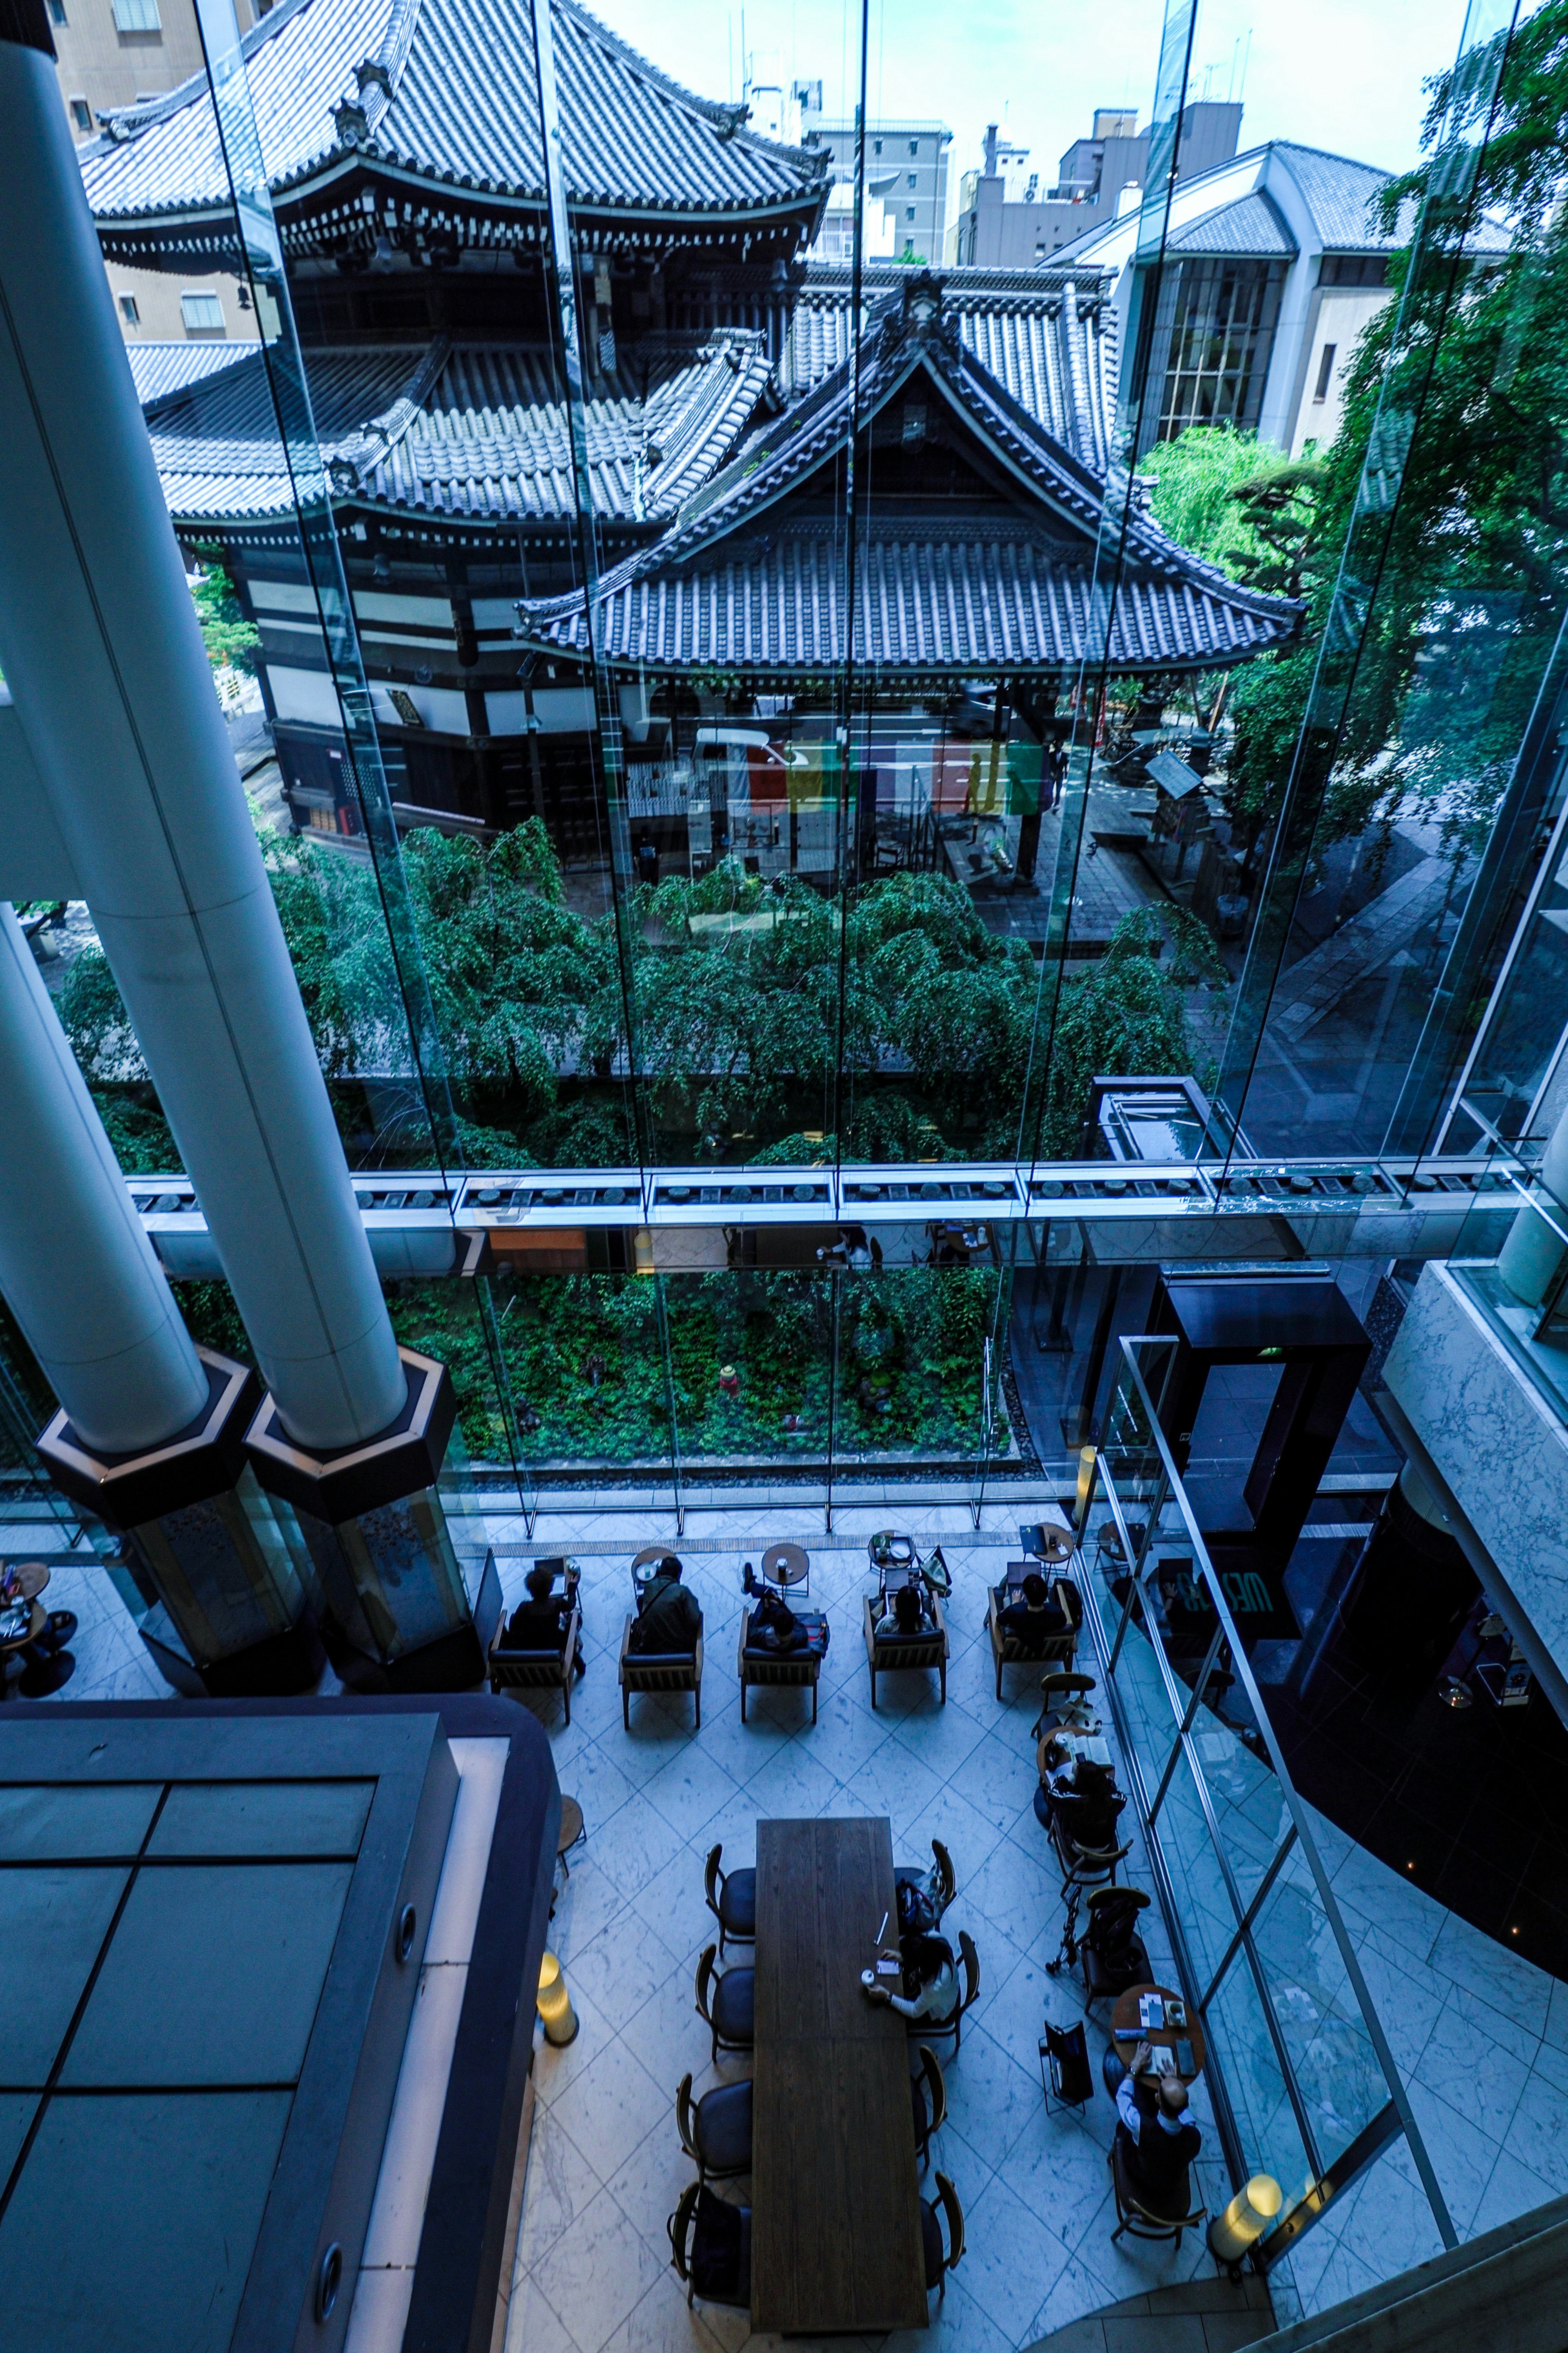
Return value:
M 884 1913 L 884 1817 L 757 1824 L 755 2329 L 929 2320 L 905 2021 L 860 1991 Z

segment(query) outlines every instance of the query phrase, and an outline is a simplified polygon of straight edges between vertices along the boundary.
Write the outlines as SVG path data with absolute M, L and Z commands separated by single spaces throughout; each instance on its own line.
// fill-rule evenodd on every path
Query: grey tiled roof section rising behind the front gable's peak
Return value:
M 863 271 L 860 322 L 910 278 L 884 261 Z M 943 308 L 964 348 L 997 376 L 1046 433 L 1091 466 L 1105 464 L 1114 407 L 1117 313 L 1110 280 L 1086 268 L 943 271 Z M 813 393 L 849 358 L 853 287 L 849 268 L 811 264 L 795 304 L 778 374 L 788 400 Z

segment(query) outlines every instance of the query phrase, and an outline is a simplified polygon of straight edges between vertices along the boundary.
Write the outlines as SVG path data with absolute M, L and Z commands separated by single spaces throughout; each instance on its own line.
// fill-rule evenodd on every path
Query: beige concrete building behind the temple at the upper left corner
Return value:
M 254 24 L 249 0 L 235 0 L 240 31 Z M 193 0 L 49 0 L 49 33 L 71 134 L 96 139 L 106 115 L 136 108 L 202 73 Z M 127 344 L 216 344 L 256 334 L 237 280 L 169 278 L 115 264 L 108 273 Z

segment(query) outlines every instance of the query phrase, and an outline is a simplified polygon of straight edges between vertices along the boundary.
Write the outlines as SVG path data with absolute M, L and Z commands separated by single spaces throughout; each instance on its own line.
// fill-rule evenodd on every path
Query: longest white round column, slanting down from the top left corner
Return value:
M 407 1384 L 223 732 L 54 64 L 0 40 L 0 668 L 289 1433 Z

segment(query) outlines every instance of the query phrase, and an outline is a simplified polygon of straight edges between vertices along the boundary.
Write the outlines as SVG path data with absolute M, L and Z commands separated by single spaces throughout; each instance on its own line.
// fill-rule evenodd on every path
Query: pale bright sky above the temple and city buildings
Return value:
M 588 5 L 703 96 L 741 94 L 745 26 L 755 80 L 820 80 L 830 115 L 853 106 L 853 0 Z M 1201 0 L 1192 96 L 1241 96 L 1244 146 L 1300 139 L 1403 169 L 1420 153 L 1420 85 L 1453 64 L 1462 21 L 1465 0 Z M 1159 24 L 1159 0 L 872 0 L 867 111 L 947 122 L 950 181 L 997 120 L 1048 186 L 1095 106 L 1147 122 Z

